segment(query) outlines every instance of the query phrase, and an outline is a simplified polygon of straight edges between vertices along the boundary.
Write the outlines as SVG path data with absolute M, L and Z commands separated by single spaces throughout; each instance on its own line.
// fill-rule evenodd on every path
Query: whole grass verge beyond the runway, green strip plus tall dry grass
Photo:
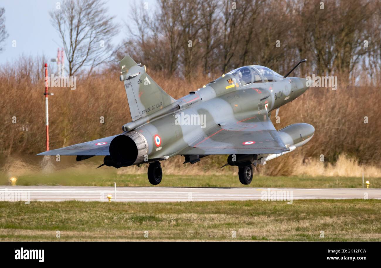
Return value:
M 288 154 L 290 155 L 290 154 Z M 147 179 L 147 165 L 126 168 L 96 167 L 102 157 L 96 156 L 86 161 L 75 162 L 70 156 L 62 156 L 61 162 L 51 161 L 50 168 L 42 166 L 36 157 L 8 158 L 0 169 L 0 185 L 11 185 L 10 178 L 16 177 L 16 185 L 66 185 L 66 186 L 152 186 Z M 288 157 L 269 161 L 257 170 L 250 185 L 242 185 L 238 180 L 237 168 L 220 169 L 218 158 L 203 158 L 204 163 L 182 164 L 182 157 L 176 156 L 163 161 L 163 180 L 159 187 L 296 187 L 296 188 L 362 188 L 364 179 L 370 180 L 371 188 L 381 188 L 379 168 L 360 165 L 344 156 L 335 165 L 324 166 L 320 161 L 303 164 L 303 158 Z M 223 160 L 221 160 L 222 162 Z M 291 162 L 289 162 L 291 161 Z M 217 162 L 217 163 L 216 163 Z M 288 175 L 282 175 L 283 172 Z M 279 173 L 279 174 L 277 174 Z M 290 175 L 291 174 L 291 175 Z

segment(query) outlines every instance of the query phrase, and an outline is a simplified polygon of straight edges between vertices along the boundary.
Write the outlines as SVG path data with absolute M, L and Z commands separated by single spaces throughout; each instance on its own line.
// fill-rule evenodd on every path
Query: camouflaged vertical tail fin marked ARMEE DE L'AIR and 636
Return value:
M 136 64 L 130 56 L 125 56 L 119 65 L 120 81 L 124 82 L 132 121 L 176 101 L 146 73 L 146 66 Z

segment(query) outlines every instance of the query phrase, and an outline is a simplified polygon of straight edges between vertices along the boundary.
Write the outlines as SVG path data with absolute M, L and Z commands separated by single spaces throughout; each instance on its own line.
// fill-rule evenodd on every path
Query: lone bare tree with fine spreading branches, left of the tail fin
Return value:
M 107 15 L 102 0 L 65 0 L 61 9 L 50 12 L 51 22 L 58 30 L 69 62 L 69 75 L 82 67 L 94 67 L 107 61 L 112 53 L 110 44 L 118 31 Z

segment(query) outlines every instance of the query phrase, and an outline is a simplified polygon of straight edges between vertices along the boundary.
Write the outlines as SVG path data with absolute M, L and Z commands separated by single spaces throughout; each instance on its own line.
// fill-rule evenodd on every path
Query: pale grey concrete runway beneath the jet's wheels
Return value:
M 192 187 L 82 187 L 82 186 L 0 186 L 0 201 L 20 201 L 10 197 L 29 196 L 30 201 L 111 201 L 178 202 L 216 200 L 288 199 L 381 199 L 381 189 L 363 188 L 192 188 Z M 8 198 L 8 199 L 7 199 Z

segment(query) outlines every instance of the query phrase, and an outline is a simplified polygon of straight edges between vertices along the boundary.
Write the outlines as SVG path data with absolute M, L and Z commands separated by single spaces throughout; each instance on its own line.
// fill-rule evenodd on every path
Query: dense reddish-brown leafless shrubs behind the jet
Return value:
M 33 155 L 45 150 L 45 102 L 43 77 L 26 73 L 22 64 L 0 69 L 0 129 L 1 154 Z M 42 71 L 40 69 L 39 71 Z M 174 98 L 205 85 L 221 74 L 202 75 L 195 72 L 187 81 L 167 77 L 163 73 L 150 75 Z M 335 163 L 345 153 L 359 164 L 379 164 L 381 159 L 379 119 L 380 86 L 352 86 L 339 83 L 338 89 L 311 88 L 297 100 L 280 108 L 280 129 L 292 123 L 305 122 L 315 127 L 315 136 L 297 149 L 298 159 L 319 159 Z M 50 148 L 77 144 L 122 132 L 121 126 L 131 120 L 128 102 L 118 72 L 109 70 L 77 78 L 77 89 L 50 88 L 54 96 L 49 99 Z M 12 123 L 16 116 L 17 124 Z M 100 123 L 104 116 L 105 123 Z M 368 116 L 369 123 L 364 123 Z M 272 161 L 276 166 L 269 174 L 292 174 L 289 166 L 296 161 L 296 152 Z M 226 163 L 225 156 L 215 156 L 218 164 Z M 298 160 L 298 161 L 299 161 Z M 208 163 L 202 161 L 201 163 Z M 274 164 L 277 163 L 277 164 Z M 210 164 L 210 163 L 209 163 Z M 261 169 L 261 168 L 260 168 Z M 263 167 L 266 170 L 266 166 Z

